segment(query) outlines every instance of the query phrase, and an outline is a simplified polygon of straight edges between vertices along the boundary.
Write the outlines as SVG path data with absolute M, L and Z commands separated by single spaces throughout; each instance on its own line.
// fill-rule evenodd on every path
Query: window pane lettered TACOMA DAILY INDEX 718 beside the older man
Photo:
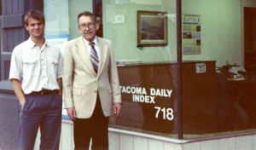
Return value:
M 175 1 L 102 1 L 103 35 L 119 64 L 122 113 L 112 126 L 176 136 Z

